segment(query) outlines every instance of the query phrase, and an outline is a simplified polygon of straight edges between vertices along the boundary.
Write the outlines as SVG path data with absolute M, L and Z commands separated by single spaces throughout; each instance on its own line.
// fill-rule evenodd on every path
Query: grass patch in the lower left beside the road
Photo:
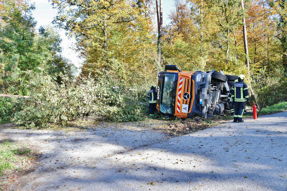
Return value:
M 0 177 L 3 176 L 6 170 L 21 168 L 21 166 L 16 167 L 16 163 L 30 152 L 30 149 L 21 147 L 17 143 L 8 140 L 0 142 Z

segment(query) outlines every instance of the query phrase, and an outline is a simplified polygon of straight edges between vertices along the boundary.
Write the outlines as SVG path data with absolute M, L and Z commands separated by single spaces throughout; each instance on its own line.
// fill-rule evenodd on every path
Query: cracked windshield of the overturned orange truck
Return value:
M 159 105 L 159 111 L 162 113 L 171 114 L 174 80 L 175 74 L 163 74 L 163 79 L 161 81 L 161 99 Z

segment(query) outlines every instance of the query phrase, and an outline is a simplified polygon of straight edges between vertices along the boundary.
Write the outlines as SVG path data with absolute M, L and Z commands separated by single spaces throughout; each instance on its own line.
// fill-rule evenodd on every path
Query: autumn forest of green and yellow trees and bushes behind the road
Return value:
M 140 102 L 165 64 L 245 74 L 254 100 L 287 100 L 287 0 L 245 0 L 244 10 L 239 0 L 175 0 L 161 31 L 154 0 L 49 2 L 58 10 L 53 26 L 36 30 L 29 0 L 0 0 L 0 93 L 30 96 L 0 98 L 0 124 L 141 120 Z M 56 28 L 76 40 L 84 60 L 78 76 Z

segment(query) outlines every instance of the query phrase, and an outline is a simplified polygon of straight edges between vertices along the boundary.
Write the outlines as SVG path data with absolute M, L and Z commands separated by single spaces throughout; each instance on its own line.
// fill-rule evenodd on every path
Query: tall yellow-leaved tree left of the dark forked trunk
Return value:
M 85 59 L 82 74 L 97 77 L 104 69 L 125 81 L 140 64 L 138 53 L 151 43 L 151 0 L 51 2 L 58 9 L 54 23 L 75 37 Z

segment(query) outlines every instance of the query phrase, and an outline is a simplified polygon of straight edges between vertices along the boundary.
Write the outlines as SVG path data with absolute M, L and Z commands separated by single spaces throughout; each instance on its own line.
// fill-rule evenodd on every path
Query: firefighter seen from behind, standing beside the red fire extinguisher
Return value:
M 230 91 L 234 103 L 233 122 L 238 123 L 244 122 L 242 120 L 242 115 L 245 108 L 245 102 L 247 101 L 247 104 L 249 104 L 248 88 L 246 83 L 243 82 L 244 79 L 245 76 L 243 74 L 240 74 L 238 76 L 238 82 L 234 83 L 234 89 L 231 89 Z

